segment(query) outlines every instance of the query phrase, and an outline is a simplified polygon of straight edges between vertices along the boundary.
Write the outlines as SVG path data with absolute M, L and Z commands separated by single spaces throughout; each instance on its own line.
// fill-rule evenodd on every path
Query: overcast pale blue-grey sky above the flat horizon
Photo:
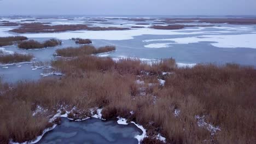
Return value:
M 0 15 L 256 15 L 256 0 L 0 0 Z

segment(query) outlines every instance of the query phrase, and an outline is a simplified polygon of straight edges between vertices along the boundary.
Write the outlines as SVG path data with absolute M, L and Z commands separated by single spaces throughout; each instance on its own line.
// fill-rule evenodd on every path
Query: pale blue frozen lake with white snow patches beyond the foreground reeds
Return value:
M 10 19 L 2 17 L 2 21 L 29 22 L 32 18 Z M 92 21 L 90 17 L 33 19 L 33 22 L 49 22 L 49 25 L 75 25 L 90 23 L 101 27 L 128 27 L 143 26 L 144 28 L 132 28 L 125 31 L 68 31 L 57 33 L 25 33 L 18 34 L 8 32 L 17 26 L 0 27 L 0 37 L 11 35 L 24 35 L 30 39 L 44 41 L 50 38 L 62 40 L 62 46 L 50 47 L 41 50 L 21 50 L 16 45 L 4 47 L 5 50 L 15 52 L 32 53 L 35 62 L 47 62 L 54 59 L 56 49 L 68 46 L 78 46 L 70 38 L 89 38 L 95 46 L 114 45 L 117 51 L 100 56 L 138 57 L 143 60 L 161 59 L 173 57 L 178 63 L 238 63 L 242 65 L 256 66 L 256 25 L 228 25 L 225 23 L 213 24 L 212 27 L 187 27 L 176 30 L 159 30 L 149 28 L 158 19 L 143 22 L 127 21 L 123 19 L 109 19 Z M 94 18 L 96 19 L 96 18 Z M 31 22 L 31 21 L 30 21 Z M 1 22 L 0 22 L 1 23 Z M 148 23 L 149 25 L 136 25 L 136 23 Z M 182 23 L 183 25 L 188 23 Z M 189 23 L 199 25 L 199 23 Z M 200 25 L 210 25 L 201 23 Z M 32 70 L 33 64 L 2 65 L 0 75 L 4 81 L 15 82 L 18 80 L 40 79 L 42 69 Z M 7 68 L 8 67 L 8 68 Z M 13 75 L 13 76 L 10 76 Z

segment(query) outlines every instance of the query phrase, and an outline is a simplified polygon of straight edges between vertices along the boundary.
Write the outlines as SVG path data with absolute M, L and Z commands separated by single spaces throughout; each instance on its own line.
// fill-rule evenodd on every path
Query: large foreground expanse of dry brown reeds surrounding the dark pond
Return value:
M 168 143 L 255 142 L 256 70 L 251 67 L 177 68 L 174 59 L 147 64 L 95 56 L 59 59 L 52 65 L 66 76 L 0 83 L 2 142 L 33 139 L 49 127 L 46 116 L 61 105 L 76 106 L 72 113 L 78 116 L 90 116 L 91 107 L 102 107 L 104 118 L 121 116 L 142 124 L 149 136 L 143 143 L 161 143 L 155 140 L 158 133 Z M 160 78 L 166 80 L 164 86 L 159 85 Z M 32 116 L 38 105 L 47 111 Z M 175 110 L 181 110 L 177 117 Z M 221 131 L 211 135 L 197 125 L 195 115 L 205 115 L 206 122 L 219 125 Z

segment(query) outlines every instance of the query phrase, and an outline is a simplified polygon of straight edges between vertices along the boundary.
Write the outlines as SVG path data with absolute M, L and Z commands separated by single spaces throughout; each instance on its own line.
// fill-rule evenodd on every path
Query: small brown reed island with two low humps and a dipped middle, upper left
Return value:
M 43 49 L 44 47 L 54 47 L 57 45 L 61 45 L 62 41 L 58 39 L 50 39 L 46 40 L 43 43 L 39 43 L 36 40 L 27 40 L 27 41 L 22 41 L 18 44 L 18 47 L 20 49 Z

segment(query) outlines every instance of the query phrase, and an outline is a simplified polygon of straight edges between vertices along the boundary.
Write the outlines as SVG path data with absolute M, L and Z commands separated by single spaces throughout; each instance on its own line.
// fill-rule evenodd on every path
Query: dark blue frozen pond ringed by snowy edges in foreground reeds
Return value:
M 117 121 L 90 118 L 71 122 L 61 118 L 61 125 L 46 133 L 38 143 L 138 143 L 135 135 L 142 134 L 134 124 L 120 125 Z

